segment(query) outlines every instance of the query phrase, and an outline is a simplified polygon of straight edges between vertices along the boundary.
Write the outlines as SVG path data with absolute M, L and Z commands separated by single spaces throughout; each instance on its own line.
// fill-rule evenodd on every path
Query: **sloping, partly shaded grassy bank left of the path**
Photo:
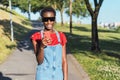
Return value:
M 10 37 L 10 21 L 8 18 L 9 10 L 4 8 L 0 9 L 1 15 L 4 15 L 1 16 L 2 19 L 0 20 L 0 63 L 2 63 L 15 49 L 17 42 L 21 40 L 32 27 L 27 18 L 13 11 L 14 42 L 12 42 Z

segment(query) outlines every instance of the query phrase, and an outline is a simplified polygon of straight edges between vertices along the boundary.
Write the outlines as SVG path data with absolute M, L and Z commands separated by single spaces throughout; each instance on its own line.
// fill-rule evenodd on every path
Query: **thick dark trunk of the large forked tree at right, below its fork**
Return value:
M 91 50 L 100 52 L 98 30 L 97 30 L 97 16 L 92 16 L 92 45 Z

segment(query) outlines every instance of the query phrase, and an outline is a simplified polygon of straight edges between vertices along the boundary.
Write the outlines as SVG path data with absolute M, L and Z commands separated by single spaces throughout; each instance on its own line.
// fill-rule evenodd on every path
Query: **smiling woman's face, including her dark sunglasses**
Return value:
M 55 15 L 53 12 L 45 12 L 42 17 L 46 30 L 52 30 L 55 22 Z

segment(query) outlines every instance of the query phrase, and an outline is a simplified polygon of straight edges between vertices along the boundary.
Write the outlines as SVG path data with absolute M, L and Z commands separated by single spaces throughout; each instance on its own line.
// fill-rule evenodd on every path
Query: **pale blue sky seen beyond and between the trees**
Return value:
M 91 0 L 92 1 L 92 0 Z M 21 13 L 20 10 L 16 9 L 16 11 L 26 17 L 27 13 Z M 31 19 L 36 20 L 40 17 L 39 13 L 31 14 Z M 69 16 L 66 14 L 63 14 L 64 22 L 69 22 Z M 60 13 L 57 11 L 56 15 L 56 21 L 60 22 Z M 90 24 L 91 23 L 91 17 L 87 18 L 76 18 L 73 16 L 73 21 L 77 22 L 80 21 L 83 24 Z M 113 22 L 120 22 L 120 0 L 104 0 L 103 4 L 100 8 L 100 12 L 98 15 L 98 23 L 113 23 Z

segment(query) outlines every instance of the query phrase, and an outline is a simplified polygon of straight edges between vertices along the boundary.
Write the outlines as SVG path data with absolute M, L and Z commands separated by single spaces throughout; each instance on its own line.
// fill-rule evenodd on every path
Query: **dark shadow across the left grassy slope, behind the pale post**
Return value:
M 9 20 L 2 20 L 0 21 L 1 25 L 4 26 L 4 34 L 10 38 L 10 23 Z M 15 40 L 20 40 L 23 33 L 27 33 L 30 29 L 25 28 L 23 25 L 20 25 L 19 23 L 13 22 L 13 30 L 14 30 L 14 39 Z

